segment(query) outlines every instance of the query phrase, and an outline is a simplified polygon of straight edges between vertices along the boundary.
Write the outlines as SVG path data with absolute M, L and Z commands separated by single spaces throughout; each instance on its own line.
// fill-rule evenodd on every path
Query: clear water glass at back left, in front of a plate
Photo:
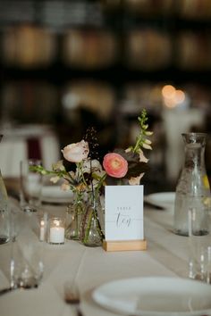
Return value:
M 37 159 L 21 161 L 21 208 L 36 212 L 41 205 L 42 175 L 31 167 L 41 165 Z

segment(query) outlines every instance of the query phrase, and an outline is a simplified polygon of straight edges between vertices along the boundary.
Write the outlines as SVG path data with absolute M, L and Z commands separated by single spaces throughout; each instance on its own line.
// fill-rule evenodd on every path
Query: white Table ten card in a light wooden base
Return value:
M 105 187 L 106 251 L 144 250 L 143 186 Z

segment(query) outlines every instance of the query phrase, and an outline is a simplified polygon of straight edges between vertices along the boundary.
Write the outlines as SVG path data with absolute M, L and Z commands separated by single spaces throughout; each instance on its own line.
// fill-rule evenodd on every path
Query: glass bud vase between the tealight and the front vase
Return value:
M 65 238 L 80 240 L 80 221 L 84 213 L 84 192 L 73 192 L 72 203 L 68 205 L 66 212 Z

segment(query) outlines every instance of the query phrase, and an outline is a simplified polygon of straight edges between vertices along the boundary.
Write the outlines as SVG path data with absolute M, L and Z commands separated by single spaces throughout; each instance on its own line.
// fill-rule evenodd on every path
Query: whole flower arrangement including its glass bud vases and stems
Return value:
M 61 188 L 71 189 L 76 195 L 72 223 L 66 229 L 67 238 L 80 239 L 84 245 L 100 245 L 104 237 L 103 220 L 100 220 L 97 202 L 101 188 L 116 181 L 116 184 L 126 182 L 130 185 L 139 185 L 140 179 L 148 170 L 148 159 L 143 150 L 152 149 L 148 137 L 153 132 L 148 131 L 146 110 L 142 110 L 138 121 L 139 135 L 135 145 L 126 150 L 118 148 L 112 153 L 105 154 L 102 163 L 98 158 L 97 132 L 90 128 L 84 139 L 65 146 L 62 150 L 64 162 L 68 162 L 73 167 L 72 170 L 65 167 L 63 160 L 54 163 L 52 170 L 46 170 L 41 165 L 32 167 L 43 175 L 50 175 L 53 183 L 63 179 Z M 86 207 L 86 213 L 83 214 L 84 193 L 89 196 L 86 204 L 91 201 L 91 205 Z

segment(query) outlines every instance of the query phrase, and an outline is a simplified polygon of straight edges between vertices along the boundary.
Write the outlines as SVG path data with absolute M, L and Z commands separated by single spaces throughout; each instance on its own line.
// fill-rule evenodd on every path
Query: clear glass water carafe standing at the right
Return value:
M 207 235 L 210 211 L 210 188 L 205 166 L 205 133 L 181 134 L 185 157 L 176 186 L 174 202 L 174 233 L 189 236 L 189 214 L 194 212 L 194 235 Z

